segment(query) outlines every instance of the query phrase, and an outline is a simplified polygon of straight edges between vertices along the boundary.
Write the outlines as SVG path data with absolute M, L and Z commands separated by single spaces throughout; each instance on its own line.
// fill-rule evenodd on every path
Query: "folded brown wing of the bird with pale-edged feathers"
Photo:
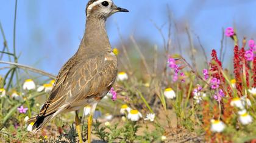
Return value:
M 105 61 L 105 55 L 87 59 L 75 58 L 60 70 L 48 100 L 41 108 L 39 116 L 52 115 L 62 105 L 76 104 L 110 88 L 117 74 L 116 61 Z

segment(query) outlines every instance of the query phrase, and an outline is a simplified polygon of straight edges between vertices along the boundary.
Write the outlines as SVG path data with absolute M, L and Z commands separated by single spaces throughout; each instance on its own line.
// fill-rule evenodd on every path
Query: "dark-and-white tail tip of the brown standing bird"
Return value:
M 52 115 L 47 115 L 47 116 L 37 115 L 27 120 L 27 124 L 32 125 L 31 131 L 37 131 L 37 130 L 40 130 L 51 119 L 52 119 Z

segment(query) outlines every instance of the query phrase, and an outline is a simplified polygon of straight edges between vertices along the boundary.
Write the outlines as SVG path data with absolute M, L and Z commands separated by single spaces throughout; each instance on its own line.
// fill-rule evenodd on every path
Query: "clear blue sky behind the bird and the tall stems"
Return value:
M 116 23 L 121 35 L 148 39 L 162 47 L 162 38 L 151 20 L 157 25 L 168 21 L 166 5 L 179 23 L 189 25 L 201 38 L 207 53 L 220 47 L 221 29 L 235 25 L 240 36 L 256 36 L 256 1 L 226 0 L 115 0 L 119 7 L 130 13 L 117 13 L 107 21 L 112 47 L 119 42 Z M 85 28 L 85 0 L 23 0 L 18 1 L 16 48 L 21 53 L 19 62 L 32 65 L 57 75 L 60 67 L 76 52 Z M 15 1 L 0 1 L 0 21 L 9 47 L 12 48 Z M 178 25 L 181 27 L 181 25 Z M 163 27 L 167 31 L 167 27 Z M 182 30 L 182 29 L 181 29 Z M 194 38 L 196 39 L 196 38 Z M 182 49 L 187 50 L 188 39 L 180 35 Z M 0 36 L 2 43 L 2 36 Z M 232 58 L 232 41 L 227 58 Z M 0 47 L 2 48 L 2 46 Z

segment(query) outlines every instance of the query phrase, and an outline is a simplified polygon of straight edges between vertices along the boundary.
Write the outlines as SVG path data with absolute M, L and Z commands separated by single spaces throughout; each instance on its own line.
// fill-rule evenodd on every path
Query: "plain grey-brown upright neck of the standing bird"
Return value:
M 105 19 L 87 18 L 84 37 L 80 48 L 85 52 L 110 51 L 111 46 L 105 29 Z

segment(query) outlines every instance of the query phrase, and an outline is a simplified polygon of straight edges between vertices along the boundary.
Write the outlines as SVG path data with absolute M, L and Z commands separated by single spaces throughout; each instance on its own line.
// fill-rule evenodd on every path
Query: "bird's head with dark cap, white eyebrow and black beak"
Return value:
M 90 0 L 86 7 L 86 15 L 94 18 L 108 18 L 116 12 L 129 12 L 128 10 L 117 7 L 112 0 Z

